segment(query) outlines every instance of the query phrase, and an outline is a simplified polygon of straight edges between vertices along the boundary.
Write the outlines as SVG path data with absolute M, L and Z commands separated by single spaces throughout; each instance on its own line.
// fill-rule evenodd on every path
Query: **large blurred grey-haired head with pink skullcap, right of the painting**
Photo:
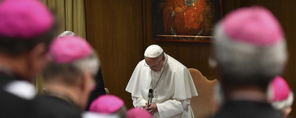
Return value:
M 282 73 L 287 60 L 285 36 L 278 20 L 266 8 L 234 10 L 216 25 L 214 34 L 214 58 L 226 99 L 239 97 L 228 93 L 240 90 L 254 95 L 258 91 L 265 93 L 269 81 Z

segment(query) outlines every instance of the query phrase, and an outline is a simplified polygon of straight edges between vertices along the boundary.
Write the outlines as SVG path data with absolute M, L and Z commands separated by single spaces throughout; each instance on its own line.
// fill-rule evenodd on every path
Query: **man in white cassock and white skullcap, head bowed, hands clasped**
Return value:
M 125 89 L 132 93 L 134 106 L 148 110 L 148 92 L 152 89 L 149 113 L 153 117 L 194 118 L 190 98 L 198 94 L 188 69 L 158 45 L 150 45 L 144 57 Z

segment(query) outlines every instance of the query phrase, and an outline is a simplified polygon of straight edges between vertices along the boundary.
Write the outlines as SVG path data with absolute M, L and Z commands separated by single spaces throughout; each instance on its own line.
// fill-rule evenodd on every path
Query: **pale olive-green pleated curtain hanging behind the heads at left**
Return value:
M 56 36 L 68 30 L 86 39 L 84 0 L 40 0 L 55 14 L 59 23 Z M 36 92 L 43 93 L 41 76 L 36 79 Z

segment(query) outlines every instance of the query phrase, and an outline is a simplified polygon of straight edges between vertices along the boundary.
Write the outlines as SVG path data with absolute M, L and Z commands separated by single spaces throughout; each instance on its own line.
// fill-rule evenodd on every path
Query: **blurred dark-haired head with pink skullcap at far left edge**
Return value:
M 0 65 L 33 81 L 47 63 L 56 29 L 51 12 L 39 1 L 0 2 Z

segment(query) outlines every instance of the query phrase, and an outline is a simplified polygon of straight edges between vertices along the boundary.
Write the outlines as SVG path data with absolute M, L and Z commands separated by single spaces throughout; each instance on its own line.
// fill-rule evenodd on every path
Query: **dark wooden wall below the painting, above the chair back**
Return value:
M 198 69 L 208 80 L 217 79 L 216 71 L 208 65 L 211 43 L 151 41 L 148 44 L 161 46 L 165 53 L 187 68 Z

